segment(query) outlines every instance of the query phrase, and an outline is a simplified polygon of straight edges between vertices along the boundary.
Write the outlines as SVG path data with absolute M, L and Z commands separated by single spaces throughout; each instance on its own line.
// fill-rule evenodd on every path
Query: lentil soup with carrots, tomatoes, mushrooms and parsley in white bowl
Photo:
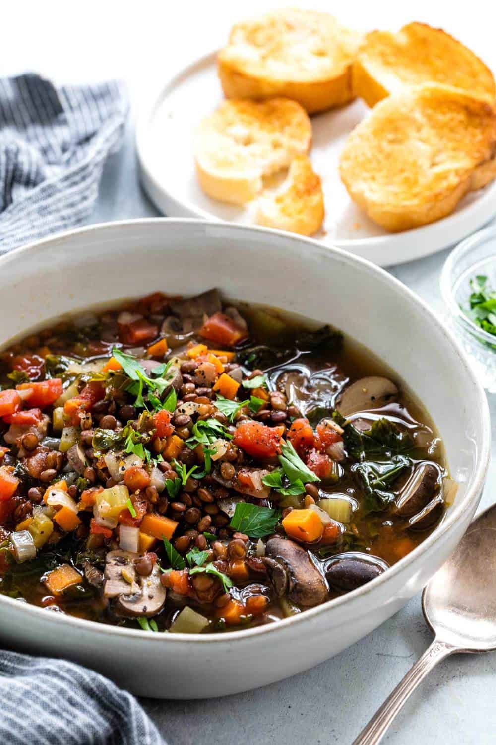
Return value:
M 331 326 L 155 293 L 1 353 L 0 591 L 211 633 L 378 577 L 455 484 L 427 413 Z

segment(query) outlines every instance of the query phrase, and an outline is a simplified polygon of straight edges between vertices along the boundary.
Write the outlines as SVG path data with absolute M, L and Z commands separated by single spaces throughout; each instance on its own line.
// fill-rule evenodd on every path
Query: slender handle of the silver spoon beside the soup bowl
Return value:
M 402 682 L 396 685 L 394 691 L 387 697 L 367 726 L 362 729 L 352 745 L 377 745 L 384 737 L 387 728 L 400 708 L 410 694 L 415 691 L 419 682 L 425 678 L 427 673 L 431 672 L 434 665 L 437 665 L 438 662 L 453 652 L 457 652 L 457 647 L 446 644 L 445 641 L 440 639 L 434 639 L 431 646 L 425 650 L 422 657 L 413 665 L 413 668 L 410 668 Z

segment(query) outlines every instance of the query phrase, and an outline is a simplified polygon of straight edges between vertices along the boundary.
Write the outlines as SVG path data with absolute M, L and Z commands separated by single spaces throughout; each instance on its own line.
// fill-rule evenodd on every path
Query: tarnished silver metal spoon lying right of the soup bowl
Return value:
M 455 652 L 496 649 L 496 504 L 483 512 L 422 595 L 431 646 L 384 701 L 352 745 L 376 745 L 419 682 Z

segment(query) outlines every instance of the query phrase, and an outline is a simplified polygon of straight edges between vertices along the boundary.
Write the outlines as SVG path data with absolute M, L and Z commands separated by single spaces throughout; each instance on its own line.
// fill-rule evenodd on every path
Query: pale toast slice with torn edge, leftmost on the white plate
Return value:
M 312 125 L 295 101 L 225 101 L 196 133 L 200 186 L 210 197 L 242 204 L 262 189 L 263 176 L 308 153 Z

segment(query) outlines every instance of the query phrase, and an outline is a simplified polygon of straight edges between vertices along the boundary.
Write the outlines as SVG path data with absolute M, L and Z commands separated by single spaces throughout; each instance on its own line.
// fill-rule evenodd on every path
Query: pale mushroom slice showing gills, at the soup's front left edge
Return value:
M 158 564 L 147 577 L 136 574 L 135 559 L 138 558 L 139 554 L 129 551 L 110 551 L 107 554 L 104 595 L 115 597 L 116 615 L 150 618 L 164 607 L 166 590 L 160 581 Z

